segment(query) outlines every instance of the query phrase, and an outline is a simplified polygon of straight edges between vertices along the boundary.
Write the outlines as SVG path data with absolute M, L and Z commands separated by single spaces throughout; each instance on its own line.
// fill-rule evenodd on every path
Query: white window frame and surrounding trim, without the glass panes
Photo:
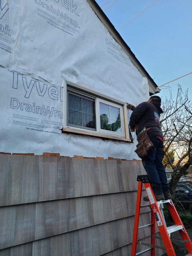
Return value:
M 95 114 L 96 114 L 96 131 L 81 127 L 75 127 L 68 124 L 68 92 L 82 95 L 85 98 L 95 99 Z M 121 127 L 122 132 L 111 132 L 107 130 L 100 129 L 100 108 L 98 106 L 99 102 L 103 102 L 110 106 L 114 106 L 120 109 L 121 117 Z M 99 118 L 98 118 L 99 116 Z M 114 99 L 110 96 L 104 95 L 100 92 L 95 92 L 88 88 L 84 88 L 79 84 L 75 84 L 64 80 L 63 87 L 63 129 L 62 132 L 74 133 L 95 136 L 100 138 L 107 138 L 112 140 L 122 140 L 126 142 L 132 142 L 130 139 L 129 125 L 128 125 L 128 115 L 126 102 Z

